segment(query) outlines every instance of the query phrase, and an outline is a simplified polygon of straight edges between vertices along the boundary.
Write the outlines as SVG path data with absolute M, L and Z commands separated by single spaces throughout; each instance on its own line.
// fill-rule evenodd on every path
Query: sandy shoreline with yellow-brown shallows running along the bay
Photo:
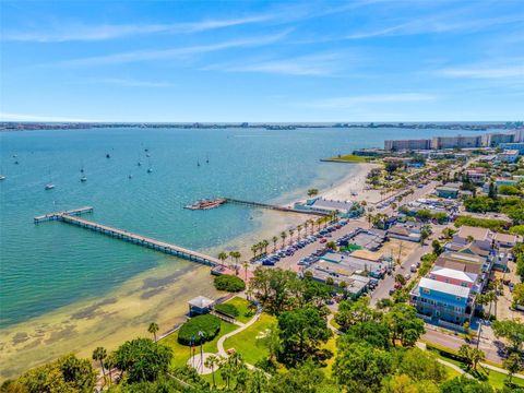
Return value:
M 335 183 L 327 187 L 322 184 L 321 194 L 342 195 L 354 188 L 352 184 L 355 179 L 365 180 L 371 167 L 357 165 L 357 169 L 352 167 L 350 172 Z M 310 187 L 320 186 L 322 179 L 320 170 L 308 187 L 278 199 L 293 203 Z M 273 236 L 278 237 L 277 246 L 281 246 L 281 231 L 295 228 L 308 216 L 253 210 L 251 219 L 254 221 L 253 230 L 219 247 L 202 251 L 215 254 L 222 250 L 236 249 L 242 253 L 242 261 L 249 260 L 251 245 L 265 238 L 272 250 Z M 70 352 L 91 357 L 91 350 L 95 346 L 102 345 L 112 350 L 127 340 L 148 336 L 146 329 L 152 321 L 160 325 L 162 332 L 166 332 L 186 319 L 187 300 L 198 295 L 218 298 L 224 293 L 215 290 L 207 266 L 166 258 L 162 264 L 139 273 L 107 294 L 3 327 L 0 330 L 0 380 L 15 377 Z

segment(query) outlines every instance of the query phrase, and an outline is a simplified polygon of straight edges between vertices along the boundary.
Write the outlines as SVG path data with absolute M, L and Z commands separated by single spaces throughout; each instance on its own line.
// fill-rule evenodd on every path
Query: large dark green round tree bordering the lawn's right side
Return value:
M 278 315 L 281 357 L 288 365 L 315 356 L 322 343 L 332 336 L 325 319 L 313 307 L 283 312 Z

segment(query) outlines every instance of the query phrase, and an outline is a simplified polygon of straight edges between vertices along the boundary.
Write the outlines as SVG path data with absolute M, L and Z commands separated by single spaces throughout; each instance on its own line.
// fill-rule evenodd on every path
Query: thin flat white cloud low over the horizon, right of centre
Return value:
M 367 94 L 319 99 L 300 106 L 315 109 L 346 109 L 368 104 L 421 103 L 434 99 L 433 95 L 424 93 Z

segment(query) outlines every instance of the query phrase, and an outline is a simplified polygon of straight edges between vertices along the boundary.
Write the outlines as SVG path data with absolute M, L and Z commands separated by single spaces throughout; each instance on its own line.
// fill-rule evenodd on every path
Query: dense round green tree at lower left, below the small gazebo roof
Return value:
M 122 344 L 112 356 L 115 366 L 126 372 L 128 381 L 133 383 L 155 381 L 165 374 L 171 362 L 172 350 L 150 338 L 135 338 Z

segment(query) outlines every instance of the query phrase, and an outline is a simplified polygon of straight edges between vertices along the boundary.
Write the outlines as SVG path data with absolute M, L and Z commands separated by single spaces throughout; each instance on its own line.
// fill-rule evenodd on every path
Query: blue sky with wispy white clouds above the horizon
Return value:
M 2 1 L 0 119 L 524 119 L 524 1 Z

